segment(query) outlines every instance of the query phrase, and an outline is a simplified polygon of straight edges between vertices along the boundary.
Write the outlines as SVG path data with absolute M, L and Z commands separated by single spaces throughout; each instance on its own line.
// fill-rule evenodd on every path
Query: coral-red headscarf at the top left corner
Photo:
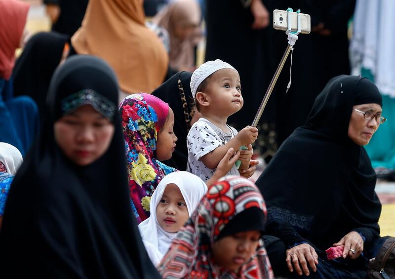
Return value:
M 0 78 L 9 80 L 28 16 L 29 4 L 0 0 Z

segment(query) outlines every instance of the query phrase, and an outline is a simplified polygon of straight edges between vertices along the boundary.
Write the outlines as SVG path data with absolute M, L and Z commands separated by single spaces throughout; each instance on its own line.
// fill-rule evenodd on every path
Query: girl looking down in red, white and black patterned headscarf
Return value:
M 261 238 L 265 201 L 251 181 L 228 176 L 208 188 L 158 266 L 162 278 L 273 278 Z

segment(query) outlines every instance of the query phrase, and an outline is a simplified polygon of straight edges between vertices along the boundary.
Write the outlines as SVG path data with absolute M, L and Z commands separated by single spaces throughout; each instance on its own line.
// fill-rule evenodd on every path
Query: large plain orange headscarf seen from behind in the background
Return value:
M 89 0 L 72 45 L 106 60 L 127 93 L 151 93 L 167 73 L 166 50 L 145 26 L 142 0 Z

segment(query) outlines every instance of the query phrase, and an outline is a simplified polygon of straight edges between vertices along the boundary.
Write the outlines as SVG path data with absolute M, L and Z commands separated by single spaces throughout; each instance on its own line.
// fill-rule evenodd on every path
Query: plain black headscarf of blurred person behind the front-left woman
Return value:
M 41 119 L 49 82 L 62 58 L 68 37 L 56 32 L 40 32 L 26 44 L 12 73 L 14 96 L 28 95 L 39 106 Z

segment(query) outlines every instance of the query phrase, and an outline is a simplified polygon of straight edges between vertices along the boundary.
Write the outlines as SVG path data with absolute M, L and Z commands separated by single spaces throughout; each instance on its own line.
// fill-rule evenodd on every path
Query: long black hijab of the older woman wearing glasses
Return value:
M 317 96 L 304 127 L 282 144 L 257 181 L 267 201 L 269 222 L 288 224 L 287 245 L 310 240 L 328 248 L 349 232 L 378 237 L 381 204 L 376 175 L 364 148 L 348 137 L 356 96 L 366 88 L 381 104 L 377 87 L 360 77 L 338 76 Z M 267 234 L 287 226 L 268 224 Z M 280 232 L 282 231 L 282 232 Z

